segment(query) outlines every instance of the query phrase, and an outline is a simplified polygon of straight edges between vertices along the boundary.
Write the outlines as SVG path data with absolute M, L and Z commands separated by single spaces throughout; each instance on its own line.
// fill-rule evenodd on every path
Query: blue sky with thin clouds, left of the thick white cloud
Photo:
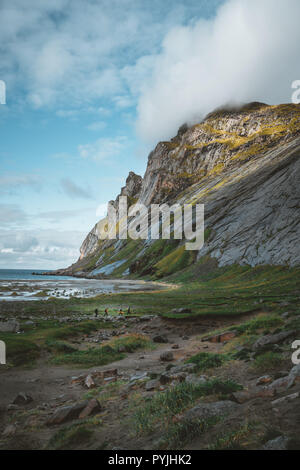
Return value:
M 129 171 L 145 171 L 137 61 L 147 68 L 169 29 L 219 3 L 1 1 L 0 268 L 77 259 Z

